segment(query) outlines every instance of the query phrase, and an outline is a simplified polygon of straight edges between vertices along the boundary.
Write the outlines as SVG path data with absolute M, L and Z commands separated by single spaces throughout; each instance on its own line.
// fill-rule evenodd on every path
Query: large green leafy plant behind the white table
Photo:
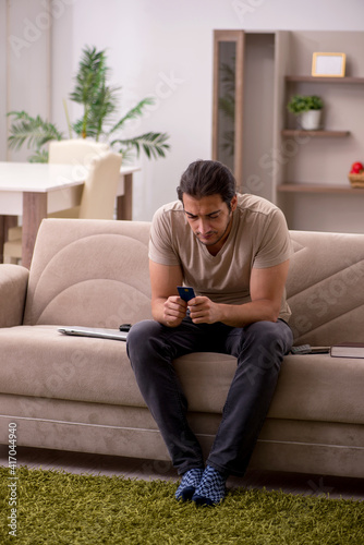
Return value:
M 108 142 L 111 148 L 122 154 L 123 160 L 128 160 L 132 152 L 136 152 L 138 156 L 141 150 L 148 158 L 166 157 L 166 152 L 169 149 L 169 144 L 167 144 L 169 136 L 166 133 L 147 132 L 130 138 L 120 136 L 126 122 L 142 117 L 145 107 L 153 105 L 154 99 L 144 98 L 134 108 L 116 119 L 119 112 L 120 87 L 112 87 L 108 84 L 108 73 L 105 50 L 97 51 L 95 47 L 86 46 L 75 76 L 75 87 L 70 94 L 72 101 L 83 106 L 83 116 L 71 123 L 64 101 L 69 128 L 66 137 L 72 138 L 76 135 L 81 138 Z M 63 140 L 63 133 L 40 116 L 33 118 L 25 111 L 11 111 L 8 116 L 13 117 L 8 138 L 9 147 L 20 149 L 27 142 L 27 147 L 33 149 L 33 155 L 28 160 L 47 162 L 47 143 L 51 140 Z

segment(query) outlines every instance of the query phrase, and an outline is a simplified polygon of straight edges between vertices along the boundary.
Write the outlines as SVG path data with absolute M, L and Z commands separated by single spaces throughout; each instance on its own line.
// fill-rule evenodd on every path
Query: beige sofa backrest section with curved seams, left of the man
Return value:
M 45 219 L 24 324 L 118 328 L 150 318 L 149 223 Z

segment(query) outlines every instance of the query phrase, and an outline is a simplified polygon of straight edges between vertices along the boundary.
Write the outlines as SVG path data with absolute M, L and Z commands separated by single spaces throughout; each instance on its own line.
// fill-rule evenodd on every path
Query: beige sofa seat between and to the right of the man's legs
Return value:
M 190 410 L 222 412 L 235 359 L 194 353 L 175 363 Z M 364 424 L 363 391 L 363 359 L 288 355 L 282 362 L 268 417 Z

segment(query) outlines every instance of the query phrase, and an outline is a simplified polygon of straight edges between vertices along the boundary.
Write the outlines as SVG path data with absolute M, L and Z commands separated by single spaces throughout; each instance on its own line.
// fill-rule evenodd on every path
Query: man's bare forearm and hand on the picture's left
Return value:
M 153 317 L 169 327 L 177 327 L 185 317 L 187 304 L 177 293 L 177 287 L 182 284 L 182 270 L 179 265 L 159 265 L 149 261 L 151 286 Z

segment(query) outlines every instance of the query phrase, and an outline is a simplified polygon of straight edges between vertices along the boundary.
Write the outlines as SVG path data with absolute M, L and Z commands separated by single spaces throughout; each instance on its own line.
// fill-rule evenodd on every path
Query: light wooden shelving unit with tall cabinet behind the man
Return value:
M 232 43 L 234 117 L 229 129 L 219 89 L 223 51 Z M 364 187 L 352 187 L 348 179 L 350 166 L 364 162 L 363 50 L 364 32 L 216 32 L 213 157 L 230 166 L 223 155 L 230 152 L 230 168 L 239 190 L 277 204 L 290 229 L 364 232 Z M 314 51 L 344 52 L 348 75 L 308 75 Z M 294 94 L 323 98 L 321 130 L 296 129 L 287 108 Z

